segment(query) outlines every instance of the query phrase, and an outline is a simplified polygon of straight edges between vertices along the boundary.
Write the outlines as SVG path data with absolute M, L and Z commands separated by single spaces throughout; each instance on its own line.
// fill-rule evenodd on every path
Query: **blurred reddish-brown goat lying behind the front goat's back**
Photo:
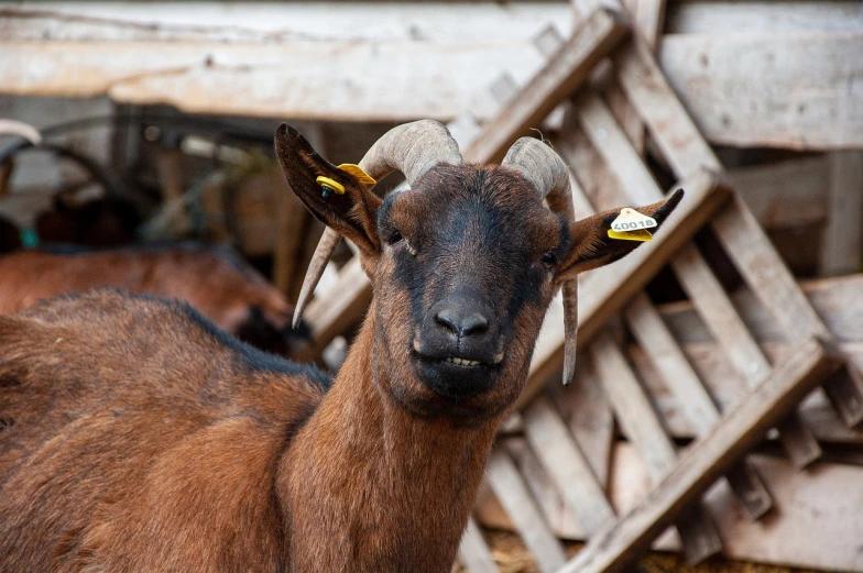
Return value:
M 30 308 L 42 298 L 117 287 L 177 298 L 240 340 L 288 355 L 307 328 L 290 328 L 293 306 L 250 265 L 227 249 L 181 243 L 87 251 L 19 251 L 0 257 L 0 313 Z

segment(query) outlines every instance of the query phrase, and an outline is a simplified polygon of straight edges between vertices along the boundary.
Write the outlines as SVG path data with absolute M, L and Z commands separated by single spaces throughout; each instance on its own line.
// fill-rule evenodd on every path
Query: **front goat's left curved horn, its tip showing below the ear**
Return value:
M 419 120 L 397 125 L 384 133 L 365 153 L 359 166 L 379 180 L 391 172 L 400 170 L 407 179 L 407 184 L 414 185 L 414 181 L 435 165 L 439 163 L 461 165 L 461 161 L 458 143 L 443 123 L 435 120 Z M 303 279 L 303 288 L 294 311 L 294 328 L 299 324 L 303 310 L 312 298 L 312 293 L 340 239 L 339 233 L 330 228 L 324 231 L 306 271 L 306 277 Z

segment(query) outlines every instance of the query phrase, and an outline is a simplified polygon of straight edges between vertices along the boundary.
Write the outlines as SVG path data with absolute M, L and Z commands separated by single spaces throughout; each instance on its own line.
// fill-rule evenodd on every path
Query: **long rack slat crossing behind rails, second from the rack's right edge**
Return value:
M 629 197 L 638 202 L 660 199 L 663 191 L 602 100 L 585 92 L 575 100 L 575 108 L 585 133 L 605 163 L 614 165 L 614 174 L 620 177 Z M 771 364 L 697 247 L 691 243 L 685 245 L 671 260 L 671 268 L 738 370 L 754 384 L 769 371 Z M 798 467 L 810 464 L 820 455 L 818 442 L 799 417 L 791 415 L 783 421 L 780 432 L 783 445 Z

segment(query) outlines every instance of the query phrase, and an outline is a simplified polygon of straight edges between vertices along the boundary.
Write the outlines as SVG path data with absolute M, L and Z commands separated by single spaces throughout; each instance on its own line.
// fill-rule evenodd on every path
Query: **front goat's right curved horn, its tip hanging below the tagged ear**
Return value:
M 576 218 L 569 169 L 560 156 L 548 145 L 534 137 L 516 141 L 501 165 L 524 175 L 539 191 L 548 208 L 562 214 L 568 222 Z M 576 374 L 576 346 L 578 345 L 578 282 L 564 283 L 564 384 L 572 382 Z

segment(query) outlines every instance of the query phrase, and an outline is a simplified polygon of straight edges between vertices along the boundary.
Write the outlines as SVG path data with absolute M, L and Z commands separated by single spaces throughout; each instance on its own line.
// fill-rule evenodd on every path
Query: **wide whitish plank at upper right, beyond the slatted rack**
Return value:
M 717 37 L 671 35 L 659 49 L 663 69 L 675 70 L 669 82 L 708 139 L 793 148 L 860 145 L 863 107 L 854 78 L 863 74 L 863 34 Z M 838 76 L 848 82 L 833 84 Z

